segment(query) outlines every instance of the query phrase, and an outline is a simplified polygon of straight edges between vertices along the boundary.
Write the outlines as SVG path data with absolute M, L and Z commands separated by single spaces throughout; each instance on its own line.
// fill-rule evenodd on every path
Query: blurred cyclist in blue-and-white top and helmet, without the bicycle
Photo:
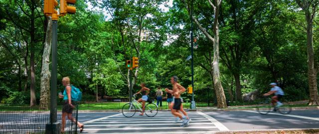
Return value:
M 271 97 L 272 99 L 271 103 L 273 104 L 273 106 L 275 106 L 275 103 L 277 103 L 274 109 L 274 111 L 276 111 L 276 108 L 283 105 L 283 103 L 281 103 L 279 100 L 284 96 L 284 91 L 279 86 L 277 86 L 277 83 L 270 83 L 269 85 L 272 88 L 270 89 L 268 93 L 265 93 L 264 96 L 275 94 L 275 96 Z

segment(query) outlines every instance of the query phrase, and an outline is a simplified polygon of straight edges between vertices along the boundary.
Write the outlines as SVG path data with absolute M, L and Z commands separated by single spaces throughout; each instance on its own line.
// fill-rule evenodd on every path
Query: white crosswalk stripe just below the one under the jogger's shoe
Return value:
M 108 131 L 108 130 L 159 130 L 159 129 L 216 129 L 217 127 L 160 127 L 160 128 L 107 128 L 107 129 L 85 129 L 85 131 Z

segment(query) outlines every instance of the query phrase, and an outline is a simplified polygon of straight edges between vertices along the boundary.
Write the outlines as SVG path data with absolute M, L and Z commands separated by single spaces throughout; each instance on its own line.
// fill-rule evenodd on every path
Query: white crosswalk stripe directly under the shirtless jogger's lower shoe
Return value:
M 204 125 L 204 124 L 209 124 L 209 125 L 214 125 L 213 123 L 191 123 L 191 125 Z M 108 125 L 85 125 L 85 127 L 101 127 L 101 126 L 164 126 L 164 125 L 180 125 L 177 123 L 163 123 L 163 124 L 108 124 Z

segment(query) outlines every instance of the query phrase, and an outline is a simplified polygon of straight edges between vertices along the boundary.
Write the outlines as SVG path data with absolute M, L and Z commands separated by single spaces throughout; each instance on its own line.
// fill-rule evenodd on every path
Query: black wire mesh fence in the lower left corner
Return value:
M 72 112 L 77 120 L 78 105 Z M 58 130 L 63 134 L 77 134 L 77 124 L 66 118 L 65 128 Z M 0 134 L 45 134 L 46 125 L 50 124 L 50 111 L 42 110 L 38 106 L 0 104 Z M 61 128 L 62 106 L 57 109 L 57 124 Z

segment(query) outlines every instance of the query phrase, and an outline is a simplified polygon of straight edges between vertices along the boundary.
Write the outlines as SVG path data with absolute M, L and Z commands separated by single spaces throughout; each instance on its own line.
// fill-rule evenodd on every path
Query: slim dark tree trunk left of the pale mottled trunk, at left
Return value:
M 31 69 L 31 85 L 30 85 L 30 106 L 36 105 L 36 98 L 35 98 L 35 67 L 34 67 L 34 45 L 35 45 L 35 1 L 31 0 L 31 26 L 30 26 L 30 69 Z

